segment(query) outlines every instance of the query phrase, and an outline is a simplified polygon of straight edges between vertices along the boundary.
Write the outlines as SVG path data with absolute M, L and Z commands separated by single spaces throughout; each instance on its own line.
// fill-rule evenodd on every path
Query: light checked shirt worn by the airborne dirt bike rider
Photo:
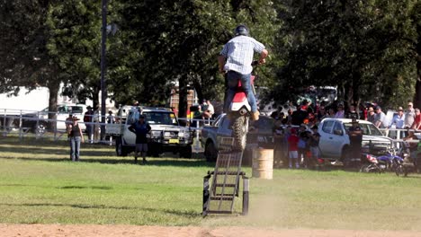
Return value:
M 241 75 L 247 75 L 253 71 L 251 64 L 254 53 L 260 54 L 263 50 L 264 45 L 259 41 L 240 35 L 229 40 L 219 54 L 227 58 L 224 70 L 236 71 Z

